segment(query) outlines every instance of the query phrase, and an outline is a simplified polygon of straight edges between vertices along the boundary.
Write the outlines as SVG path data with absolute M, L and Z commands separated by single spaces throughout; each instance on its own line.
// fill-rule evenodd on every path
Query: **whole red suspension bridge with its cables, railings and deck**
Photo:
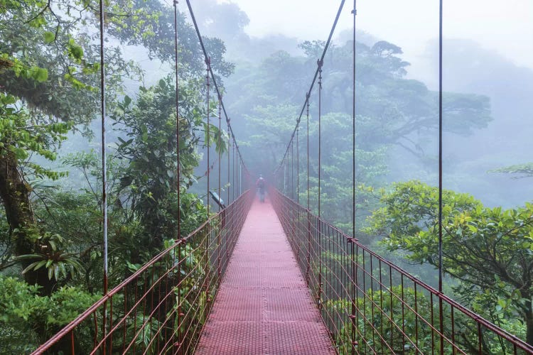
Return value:
M 284 158 L 269 180 L 264 203 L 255 195 L 254 175 L 242 158 L 193 9 L 190 1 L 186 2 L 205 55 L 206 105 L 210 105 L 210 88 L 215 87 L 219 105 L 216 119 L 220 123 L 224 114 L 230 134 L 230 148 L 227 149 L 230 188 L 225 197 L 228 204 L 220 204 L 217 213 L 210 213 L 208 202 L 207 222 L 188 236 L 181 235 L 178 224 L 175 244 L 111 290 L 108 290 L 106 278 L 102 298 L 33 354 L 533 354 L 532 346 L 445 295 L 442 264 L 438 289 L 432 288 L 361 244 L 355 233 L 355 217 L 352 234 L 346 234 L 321 218 L 322 68 L 345 1 L 340 1 Z M 104 13 L 104 1 L 100 1 L 100 6 Z M 177 1 L 174 1 L 174 9 L 177 16 Z M 442 1 L 440 11 L 442 83 Z M 355 1 L 352 14 L 355 210 Z M 103 53 L 103 16 L 100 20 Z M 176 21 L 175 29 L 178 58 Z M 105 189 L 103 54 L 101 68 Z M 176 103 L 179 101 L 178 84 L 176 74 Z M 307 130 L 306 145 L 303 145 L 307 152 L 301 153 L 303 140 L 298 130 L 304 121 L 306 126 L 303 127 L 309 127 L 313 89 L 318 91 L 317 214 L 309 208 L 309 134 Z M 179 107 L 176 109 L 179 146 Z M 439 119 L 441 219 L 442 85 Z M 207 120 L 209 129 L 209 116 Z M 210 158 L 208 150 L 207 196 Z M 300 159 L 307 159 L 305 205 L 300 201 L 300 179 L 305 175 L 300 171 Z M 218 161 L 222 162 L 222 153 Z M 178 150 L 178 174 L 179 166 Z M 290 188 L 279 189 L 280 185 L 290 185 Z M 105 199 L 105 190 L 103 196 Z M 104 211 L 106 203 L 104 200 Z M 107 220 L 105 212 L 104 220 Z M 441 220 L 439 226 L 442 226 Z M 105 233 L 104 228 L 107 260 Z M 104 273 L 107 275 L 107 261 Z

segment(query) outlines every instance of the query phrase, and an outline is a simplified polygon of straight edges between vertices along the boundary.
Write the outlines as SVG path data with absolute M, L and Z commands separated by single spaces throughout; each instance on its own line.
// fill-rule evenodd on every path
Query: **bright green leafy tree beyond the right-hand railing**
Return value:
M 438 189 L 397 183 L 382 192 L 381 202 L 367 232 L 383 236 L 390 251 L 407 251 L 409 261 L 438 267 Z M 456 293 L 495 307 L 485 316 L 505 311 L 507 321 L 519 317 L 533 344 L 533 204 L 488 208 L 468 194 L 444 190 L 443 206 L 443 271 L 460 281 Z

